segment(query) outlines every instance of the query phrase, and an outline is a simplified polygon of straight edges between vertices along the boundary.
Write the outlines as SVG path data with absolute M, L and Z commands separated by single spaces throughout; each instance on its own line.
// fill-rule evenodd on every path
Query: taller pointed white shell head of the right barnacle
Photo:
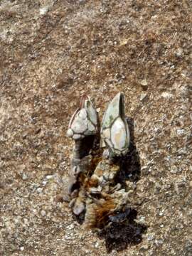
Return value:
M 129 148 L 129 128 L 124 116 L 124 95 L 119 92 L 102 119 L 101 137 L 105 146 L 109 146 L 114 154 L 126 154 Z

